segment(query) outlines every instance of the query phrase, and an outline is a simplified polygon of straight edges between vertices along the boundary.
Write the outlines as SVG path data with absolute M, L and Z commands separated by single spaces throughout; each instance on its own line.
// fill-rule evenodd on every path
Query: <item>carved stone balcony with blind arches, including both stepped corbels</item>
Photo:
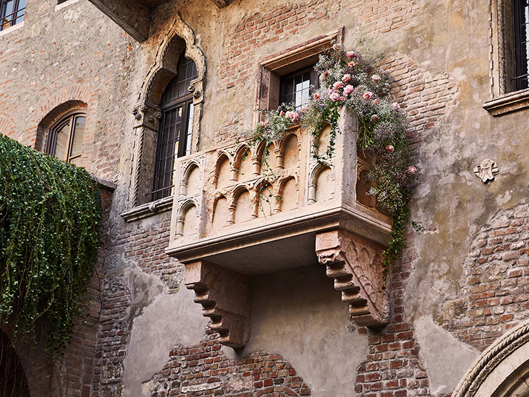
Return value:
M 293 128 L 269 153 L 242 142 L 178 159 L 167 253 L 185 264 L 186 286 L 226 345 L 249 338 L 251 275 L 318 262 L 354 321 L 387 322 L 380 264 L 391 222 L 357 182 L 368 167 L 357 157 L 357 119 L 340 120 L 329 164 L 313 153 L 326 151 L 330 127 L 319 142 Z

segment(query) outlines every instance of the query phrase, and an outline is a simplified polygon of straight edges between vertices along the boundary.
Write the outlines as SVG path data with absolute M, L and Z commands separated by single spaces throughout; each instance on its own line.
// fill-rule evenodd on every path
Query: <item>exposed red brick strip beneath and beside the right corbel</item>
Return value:
M 354 391 L 365 397 L 429 396 L 429 380 L 419 357 L 413 326 L 405 321 L 404 294 L 414 271 L 413 236 L 400 263 L 390 271 L 390 324 L 381 330 L 359 329 L 368 334 L 369 353 L 357 369 Z

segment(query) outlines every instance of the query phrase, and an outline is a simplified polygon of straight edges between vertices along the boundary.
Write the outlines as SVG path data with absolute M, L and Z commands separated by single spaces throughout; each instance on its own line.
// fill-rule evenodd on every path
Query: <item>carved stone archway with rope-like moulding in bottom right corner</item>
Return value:
M 529 395 L 529 321 L 512 328 L 471 365 L 452 397 Z

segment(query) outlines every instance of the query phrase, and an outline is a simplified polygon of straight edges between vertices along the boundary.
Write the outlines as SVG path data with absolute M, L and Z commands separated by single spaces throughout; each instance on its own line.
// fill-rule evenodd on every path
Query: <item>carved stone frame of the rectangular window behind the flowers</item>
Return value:
M 318 36 L 295 47 L 267 56 L 258 65 L 258 84 L 254 107 L 254 125 L 260 121 L 263 110 L 276 109 L 279 106 L 281 76 L 314 65 L 319 54 L 334 43 L 342 44 L 344 28 Z

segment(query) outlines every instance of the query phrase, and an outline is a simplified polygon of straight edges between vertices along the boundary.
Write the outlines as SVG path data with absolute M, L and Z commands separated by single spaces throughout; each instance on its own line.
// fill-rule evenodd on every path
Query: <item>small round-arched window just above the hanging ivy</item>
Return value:
M 46 153 L 66 162 L 75 162 L 82 154 L 86 121 L 86 115 L 79 111 L 71 111 L 60 118 L 48 131 Z

